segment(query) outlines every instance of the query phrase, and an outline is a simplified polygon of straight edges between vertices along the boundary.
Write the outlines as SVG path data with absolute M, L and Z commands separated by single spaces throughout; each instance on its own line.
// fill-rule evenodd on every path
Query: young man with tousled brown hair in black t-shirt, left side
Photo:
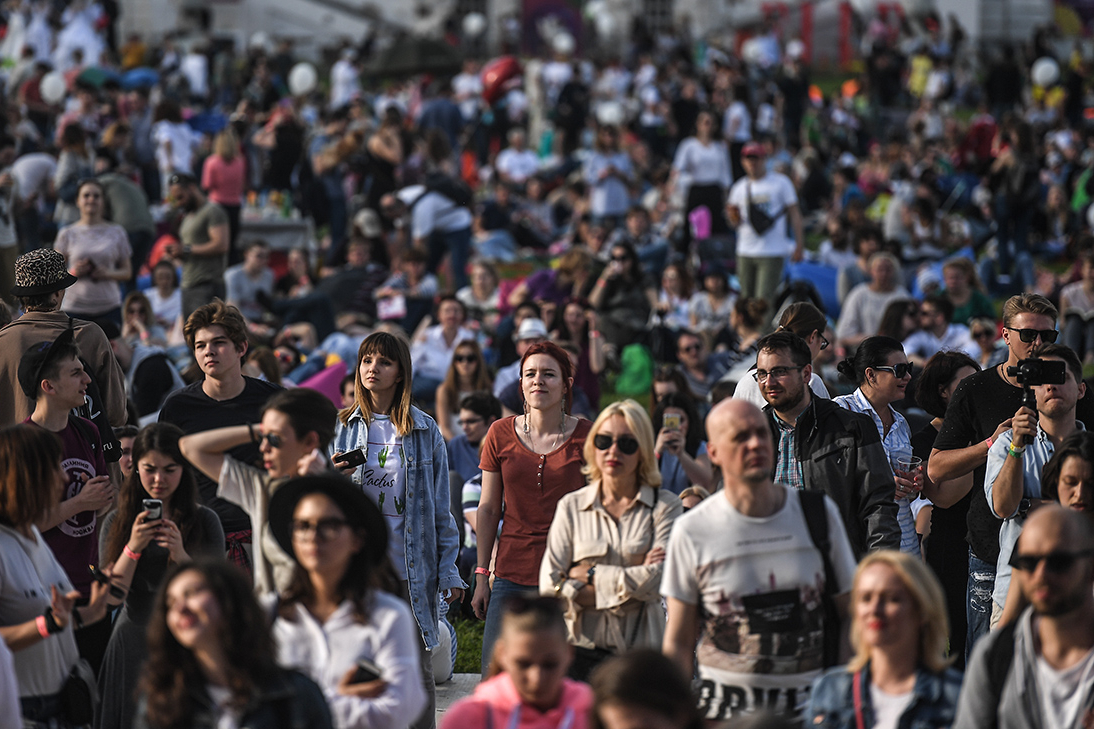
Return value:
M 187 435 L 258 423 L 263 405 L 281 387 L 243 377 L 247 327 L 240 310 L 214 299 L 190 314 L 183 334 L 205 379 L 167 397 L 160 423 L 173 423 Z M 258 443 L 229 452 L 244 463 L 254 464 L 260 458 Z M 202 501 L 217 512 L 224 528 L 229 558 L 249 571 L 251 519 L 243 509 L 217 496 L 216 482 L 205 474 L 196 475 Z

